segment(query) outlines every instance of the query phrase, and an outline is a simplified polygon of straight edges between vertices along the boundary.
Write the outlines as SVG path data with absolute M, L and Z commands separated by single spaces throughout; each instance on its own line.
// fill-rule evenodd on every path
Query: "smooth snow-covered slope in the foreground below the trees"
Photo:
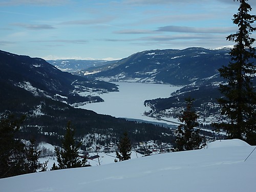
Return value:
M 222 140 L 196 151 L 0 179 L 0 191 L 256 191 L 256 151 Z

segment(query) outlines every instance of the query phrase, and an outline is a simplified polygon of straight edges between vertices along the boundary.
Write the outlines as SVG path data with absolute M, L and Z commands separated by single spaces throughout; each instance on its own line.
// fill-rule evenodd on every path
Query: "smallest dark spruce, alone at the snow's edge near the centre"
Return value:
M 131 159 L 132 145 L 127 135 L 127 132 L 123 133 L 123 137 L 121 137 L 118 144 L 118 150 L 119 152 L 116 152 L 116 157 L 118 158 L 119 161 Z M 116 161 L 117 160 L 115 160 L 115 162 Z

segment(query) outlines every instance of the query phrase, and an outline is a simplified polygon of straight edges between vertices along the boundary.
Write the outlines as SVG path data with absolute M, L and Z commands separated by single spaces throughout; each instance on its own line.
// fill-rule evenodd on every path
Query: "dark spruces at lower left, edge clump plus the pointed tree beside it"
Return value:
M 39 162 L 42 150 L 36 147 L 36 140 L 33 138 L 28 142 L 16 138 L 25 118 L 25 116 L 15 118 L 11 114 L 6 114 L 0 119 L 0 178 L 48 170 L 49 160 L 44 163 Z M 70 121 L 65 130 L 61 148 L 55 147 L 54 150 L 58 165 L 54 163 L 51 170 L 87 166 L 87 157 L 80 160 L 78 151 L 81 142 L 75 140 L 74 129 L 72 129 Z

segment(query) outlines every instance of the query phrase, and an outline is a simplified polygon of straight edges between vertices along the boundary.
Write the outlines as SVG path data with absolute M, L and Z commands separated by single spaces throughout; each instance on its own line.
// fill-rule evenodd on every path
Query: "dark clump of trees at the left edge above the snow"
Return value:
M 15 118 L 13 115 L 0 119 L 0 178 L 47 170 L 47 162 L 39 162 L 40 150 L 35 140 L 30 139 L 26 145 L 16 138 L 24 119 L 25 116 Z

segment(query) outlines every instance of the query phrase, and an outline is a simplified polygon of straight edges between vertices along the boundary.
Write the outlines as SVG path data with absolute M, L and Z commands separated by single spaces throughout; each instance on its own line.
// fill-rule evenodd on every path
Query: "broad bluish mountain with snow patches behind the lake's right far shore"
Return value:
M 108 81 L 136 81 L 187 85 L 218 76 L 218 69 L 230 61 L 230 49 L 149 50 L 116 62 L 117 67 L 90 75 Z

